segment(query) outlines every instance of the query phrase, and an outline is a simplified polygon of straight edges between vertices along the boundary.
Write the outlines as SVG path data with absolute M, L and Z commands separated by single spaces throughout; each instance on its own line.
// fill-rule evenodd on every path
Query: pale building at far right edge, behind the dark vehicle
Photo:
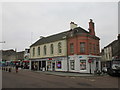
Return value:
M 112 59 L 120 59 L 120 34 L 118 34 L 117 40 L 114 40 L 109 45 L 104 47 L 101 52 L 102 56 L 102 66 L 105 65 L 107 61 Z

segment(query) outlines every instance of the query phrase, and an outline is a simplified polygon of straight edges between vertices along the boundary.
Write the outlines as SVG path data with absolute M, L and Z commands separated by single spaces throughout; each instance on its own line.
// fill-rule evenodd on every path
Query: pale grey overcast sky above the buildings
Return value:
M 95 23 L 100 49 L 117 39 L 117 2 L 4 2 L 0 3 L 2 49 L 23 51 L 40 36 L 70 29 L 70 22 L 88 31 L 89 19 Z

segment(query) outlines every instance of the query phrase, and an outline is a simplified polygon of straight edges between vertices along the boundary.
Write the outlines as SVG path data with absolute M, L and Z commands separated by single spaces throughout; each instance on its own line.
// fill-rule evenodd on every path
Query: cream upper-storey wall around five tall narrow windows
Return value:
M 62 53 L 58 53 L 58 43 L 62 43 Z M 50 53 L 50 45 L 53 44 L 54 46 L 54 53 Z M 47 54 L 44 55 L 44 45 L 47 47 Z M 37 48 L 40 47 L 40 55 L 38 55 Z M 32 56 L 33 48 L 35 48 L 35 56 Z M 30 58 L 46 58 L 46 57 L 56 57 L 56 56 L 66 56 L 67 55 L 67 47 L 66 47 L 66 40 L 60 40 L 56 42 L 51 42 L 47 44 L 42 44 L 38 46 L 33 46 L 30 48 Z

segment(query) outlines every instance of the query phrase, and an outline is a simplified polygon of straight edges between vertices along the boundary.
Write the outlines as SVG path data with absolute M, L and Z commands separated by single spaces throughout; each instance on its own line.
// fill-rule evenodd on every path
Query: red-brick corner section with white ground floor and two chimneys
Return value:
M 94 73 L 100 69 L 99 37 L 95 35 L 94 22 L 90 19 L 89 31 L 70 23 L 67 47 L 69 71 Z

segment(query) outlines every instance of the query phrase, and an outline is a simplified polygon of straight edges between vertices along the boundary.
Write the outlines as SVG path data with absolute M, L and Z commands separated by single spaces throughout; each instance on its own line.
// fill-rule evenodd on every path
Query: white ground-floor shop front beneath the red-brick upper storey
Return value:
M 89 55 L 73 55 L 69 56 L 69 71 L 79 73 L 94 73 L 98 69 L 101 70 L 100 57 Z

